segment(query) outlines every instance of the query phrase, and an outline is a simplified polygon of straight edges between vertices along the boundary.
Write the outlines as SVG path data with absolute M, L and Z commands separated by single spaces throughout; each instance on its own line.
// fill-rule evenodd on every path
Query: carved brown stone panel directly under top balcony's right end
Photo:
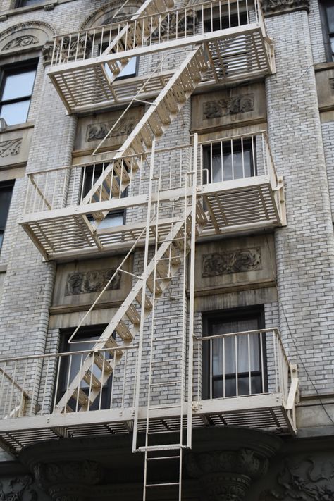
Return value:
M 192 97 L 192 131 L 231 128 L 266 120 L 264 84 L 230 87 Z

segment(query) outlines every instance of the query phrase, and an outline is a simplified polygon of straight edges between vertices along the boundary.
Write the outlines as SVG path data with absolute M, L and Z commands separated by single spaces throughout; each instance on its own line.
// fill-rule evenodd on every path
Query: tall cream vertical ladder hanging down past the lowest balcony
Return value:
M 155 284 L 156 279 L 159 276 L 166 276 L 169 279 L 171 269 L 173 268 L 173 256 L 164 256 L 163 259 L 156 260 L 156 266 L 154 268 L 153 277 L 153 297 L 152 297 L 152 311 L 151 311 L 151 327 L 149 340 L 144 339 L 144 333 L 147 333 L 148 328 L 144 331 L 143 328 L 140 329 L 140 363 L 139 371 L 137 373 L 136 381 L 136 401 L 135 401 L 135 420 L 134 420 L 134 433 L 133 433 L 133 443 L 132 450 L 144 452 L 144 491 L 143 500 L 147 499 L 147 494 L 149 490 L 155 490 L 158 488 L 174 488 L 178 491 L 178 501 L 181 500 L 182 496 L 182 465 L 183 465 L 183 449 L 186 447 L 191 447 L 192 443 L 192 336 L 193 336 L 193 319 L 189 322 L 189 340 L 187 339 L 187 256 L 189 256 L 192 264 L 190 265 L 190 271 L 192 276 L 190 276 L 190 291 L 192 292 L 192 297 L 190 297 L 190 312 L 193 314 L 193 292 L 194 292 L 194 245 L 197 236 L 203 228 L 203 223 L 205 223 L 206 216 L 200 202 L 197 202 L 196 197 L 196 183 L 197 183 L 197 135 L 195 135 L 194 140 L 194 161 L 193 170 L 186 173 L 186 177 L 189 176 L 190 186 L 192 187 L 192 195 L 184 198 L 183 214 L 180 215 L 180 221 L 183 220 L 183 229 L 178 232 L 175 236 L 173 243 L 178 246 L 182 251 L 182 263 L 183 266 L 178 268 L 180 272 L 178 275 L 174 274 L 174 278 L 178 280 L 178 287 L 182 289 L 180 295 L 178 295 L 180 303 L 180 314 L 172 314 L 171 318 L 173 321 L 178 320 L 178 328 L 175 328 L 175 333 L 164 335 L 163 333 L 158 333 L 156 328 L 156 309 L 155 309 L 155 299 L 156 295 L 159 294 Z M 154 152 L 151 157 L 151 171 L 150 171 L 150 189 L 149 194 L 152 192 L 152 160 L 154 162 Z M 187 188 L 188 183 L 185 182 L 185 188 Z M 156 249 L 159 246 L 159 190 L 158 202 L 156 203 Z M 146 262 L 146 261 L 145 261 Z M 171 291 L 173 297 L 173 292 Z M 174 296 L 174 299 L 176 297 Z M 182 308 L 181 308 L 182 304 Z M 167 319 L 165 316 L 163 319 Z M 163 355 L 166 356 L 166 352 L 169 354 L 171 345 L 175 343 L 179 345 L 175 348 L 175 356 L 173 359 L 163 359 Z M 166 343 L 166 350 L 161 350 L 161 345 Z M 171 343 L 171 344 L 169 344 Z M 142 366 L 144 361 L 142 360 L 142 352 L 144 347 L 149 345 L 149 378 L 148 383 L 144 380 L 142 376 Z M 188 349 L 188 351 L 187 351 Z M 173 352 L 173 350 L 172 350 Z M 185 359 L 185 354 L 187 352 L 187 360 Z M 162 356 L 161 356 L 162 355 Z M 173 355 L 172 355 L 173 356 Z M 172 381 L 169 380 L 166 374 L 166 369 L 168 364 L 176 364 L 178 366 L 178 373 Z M 186 371 L 186 366 L 188 364 L 188 370 Z M 166 369 L 164 368 L 166 365 Z M 186 374 L 187 373 L 187 374 Z M 176 377 L 176 378 L 175 378 Z M 144 381 L 143 381 L 144 380 Z M 159 381 L 158 381 L 159 380 Z M 138 411 L 140 407 L 140 393 L 141 389 L 147 388 L 147 406 L 146 406 L 146 423 L 145 423 L 145 443 L 143 446 L 137 446 L 138 433 L 140 433 L 140 423 L 138 422 Z M 169 391 L 173 388 L 174 402 L 170 404 L 161 404 L 154 402 L 154 390 L 159 388 L 168 388 Z M 161 399 L 160 399 L 161 400 Z M 157 424 L 154 413 L 163 408 L 174 409 L 175 415 L 173 414 L 173 423 L 168 429 L 161 430 L 159 423 Z M 186 433 L 185 433 L 186 428 Z M 173 436 L 176 435 L 176 439 Z M 168 438 L 172 438 L 168 440 Z M 177 478 L 167 478 L 165 481 L 157 483 L 151 479 L 152 468 L 154 465 L 161 466 L 160 471 L 171 471 L 171 464 L 175 464 L 174 471 L 178 472 Z M 176 498 L 175 498 L 176 499 Z

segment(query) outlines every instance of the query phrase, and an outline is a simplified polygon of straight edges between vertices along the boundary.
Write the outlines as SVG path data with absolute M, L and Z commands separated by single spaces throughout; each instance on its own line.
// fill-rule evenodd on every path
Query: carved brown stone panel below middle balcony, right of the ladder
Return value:
M 245 287 L 270 287 L 275 275 L 272 235 L 216 240 L 197 245 L 197 294 L 211 294 L 213 290 L 228 292 Z

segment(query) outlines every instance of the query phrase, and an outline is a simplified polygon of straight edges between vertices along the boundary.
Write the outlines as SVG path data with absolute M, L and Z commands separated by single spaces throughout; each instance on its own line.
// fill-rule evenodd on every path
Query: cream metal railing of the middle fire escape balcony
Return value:
M 273 164 L 266 132 L 223 137 L 199 142 L 197 185 L 268 176 L 273 188 L 278 176 Z M 124 156 L 117 161 L 81 163 L 27 175 L 24 214 L 78 206 L 101 175 L 107 172 L 99 189 L 86 204 L 147 194 L 150 152 Z M 155 152 L 154 177 L 159 190 L 183 187 L 185 172 L 191 171 L 194 146 L 160 149 Z M 131 180 L 131 182 L 130 182 Z M 126 191 L 118 190 L 128 185 Z

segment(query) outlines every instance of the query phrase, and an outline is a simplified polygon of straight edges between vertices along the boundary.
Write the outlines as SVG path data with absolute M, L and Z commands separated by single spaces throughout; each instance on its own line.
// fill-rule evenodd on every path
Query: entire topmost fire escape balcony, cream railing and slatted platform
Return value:
M 132 99 L 137 92 L 138 79 L 115 81 L 131 58 L 203 43 L 210 66 L 204 81 L 232 82 L 273 73 L 272 44 L 259 0 L 216 0 L 56 37 L 49 76 L 69 112 L 103 108 Z M 105 51 L 104 44 L 109 45 Z M 159 79 L 151 82 L 148 92 L 152 85 L 161 85 Z

